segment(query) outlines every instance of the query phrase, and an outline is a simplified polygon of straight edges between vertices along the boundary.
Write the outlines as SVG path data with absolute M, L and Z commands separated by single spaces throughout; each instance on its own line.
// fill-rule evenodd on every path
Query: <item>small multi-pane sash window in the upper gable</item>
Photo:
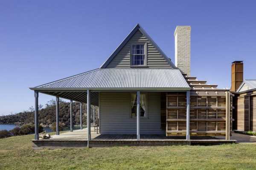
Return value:
M 131 51 L 131 65 L 145 65 L 145 44 L 133 44 Z

